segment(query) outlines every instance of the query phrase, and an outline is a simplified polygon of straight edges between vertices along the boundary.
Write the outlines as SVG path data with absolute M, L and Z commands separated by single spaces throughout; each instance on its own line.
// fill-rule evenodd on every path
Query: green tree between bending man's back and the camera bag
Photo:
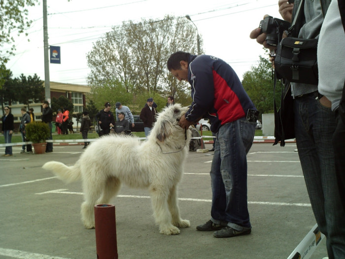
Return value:
M 260 113 L 274 111 L 274 80 L 272 63 L 266 57 L 259 57 L 259 65 L 252 66 L 250 71 L 243 74 L 242 84 L 250 99 Z M 279 85 L 279 82 L 277 82 Z M 280 88 L 279 88 L 280 89 Z M 280 92 L 276 93 L 279 98 Z

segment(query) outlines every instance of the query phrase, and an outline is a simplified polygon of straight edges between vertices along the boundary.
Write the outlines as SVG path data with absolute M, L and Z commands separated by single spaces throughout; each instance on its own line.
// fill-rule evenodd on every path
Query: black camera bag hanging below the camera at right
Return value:
M 317 84 L 317 39 L 283 38 L 277 46 L 275 70 L 290 82 Z

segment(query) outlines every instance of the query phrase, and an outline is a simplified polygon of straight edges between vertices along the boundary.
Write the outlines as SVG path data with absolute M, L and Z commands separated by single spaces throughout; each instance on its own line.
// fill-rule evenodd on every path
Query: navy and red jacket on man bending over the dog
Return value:
M 225 123 L 245 117 L 248 109 L 256 110 L 240 78 L 221 59 L 209 55 L 190 55 L 188 81 L 193 102 L 186 119 L 197 121 L 207 114 L 212 132 L 218 132 Z

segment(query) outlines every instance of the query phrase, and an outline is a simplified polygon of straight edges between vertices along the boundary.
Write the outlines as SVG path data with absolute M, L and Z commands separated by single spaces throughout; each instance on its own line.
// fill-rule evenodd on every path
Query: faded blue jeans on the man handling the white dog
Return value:
M 256 122 L 243 119 L 226 123 L 216 134 L 211 165 L 211 220 L 241 231 L 250 228 L 247 207 L 247 158 Z

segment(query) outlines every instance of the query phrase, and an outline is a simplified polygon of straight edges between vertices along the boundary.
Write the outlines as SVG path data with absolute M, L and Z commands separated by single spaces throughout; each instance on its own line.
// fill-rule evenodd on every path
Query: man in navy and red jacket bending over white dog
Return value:
M 179 120 L 182 128 L 206 115 L 216 144 L 211 165 L 211 219 L 197 226 L 215 231 L 214 237 L 234 237 L 251 232 L 247 204 L 247 159 L 254 139 L 256 119 L 246 119 L 256 108 L 235 71 L 209 55 L 178 51 L 168 60 L 168 70 L 191 85 L 193 102 Z

